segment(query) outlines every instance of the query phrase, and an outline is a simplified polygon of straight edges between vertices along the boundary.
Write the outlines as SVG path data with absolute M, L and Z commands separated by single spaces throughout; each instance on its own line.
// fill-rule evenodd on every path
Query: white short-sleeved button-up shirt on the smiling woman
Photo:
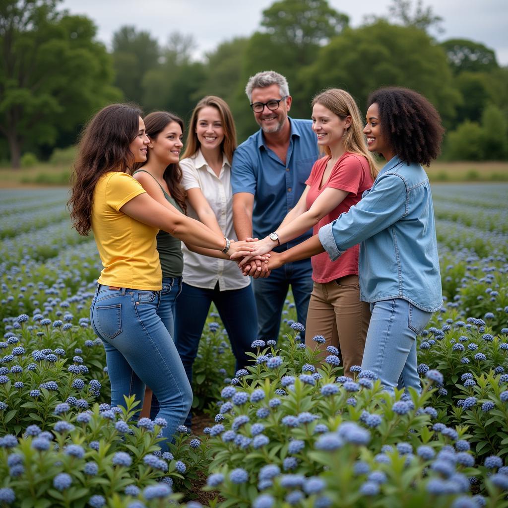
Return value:
M 182 185 L 185 190 L 199 188 L 208 201 L 217 223 L 228 238 L 235 239 L 233 229 L 233 195 L 231 192 L 231 165 L 223 154 L 223 166 L 219 176 L 206 163 L 205 157 L 198 150 L 194 157 L 180 161 Z M 189 217 L 199 220 L 198 214 L 187 204 Z M 250 277 L 244 277 L 238 265 L 233 261 L 210 258 L 192 252 L 185 245 L 183 251 L 183 281 L 196 288 L 213 289 L 218 281 L 219 290 L 227 291 L 245 288 L 250 284 Z

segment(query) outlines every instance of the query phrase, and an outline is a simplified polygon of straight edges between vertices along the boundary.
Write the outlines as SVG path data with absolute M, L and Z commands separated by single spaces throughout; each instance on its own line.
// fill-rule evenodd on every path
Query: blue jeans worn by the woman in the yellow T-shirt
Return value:
M 157 316 L 159 298 L 158 291 L 99 284 L 90 322 L 104 342 L 111 404 L 124 405 L 124 395 L 135 395 L 142 406 L 148 385 L 161 404 L 157 417 L 168 423 L 163 436 L 171 438 L 184 422 L 193 395 L 175 344 Z M 161 446 L 167 449 L 166 442 Z

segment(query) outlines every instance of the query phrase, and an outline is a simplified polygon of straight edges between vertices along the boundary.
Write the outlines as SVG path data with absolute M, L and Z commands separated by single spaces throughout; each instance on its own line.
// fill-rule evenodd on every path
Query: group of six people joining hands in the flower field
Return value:
M 104 266 L 91 308 L 113 405 L 153 390 L 170 438 L 190 424 L 192 365 L 213 302 L 237 368 L 253 340 L 277 339 L 291 285 L 302 338 L 336 346 L 345 375 L 369 369 L 385 389 L 420 390 L 416 336 L 442 304 L 428 165 L 443 129 L 420 94 L 382 88 L 366 124 L 332 88 L 311 119 L 289 116 L 287 80 L 252 76 L 260 130 L 236 146 L 214 96 L 183 122 L 107 106 L 86 126 L 70 199 Z M 373 153 L 386 165 L 378 171 Z M 181 246 L 183 242 L 183 247 Z M 322 343 L 323 342 L 323 343 Z

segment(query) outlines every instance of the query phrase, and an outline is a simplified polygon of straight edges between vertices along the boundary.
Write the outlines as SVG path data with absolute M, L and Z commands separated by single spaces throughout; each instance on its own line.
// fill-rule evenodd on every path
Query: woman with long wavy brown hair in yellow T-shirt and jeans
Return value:
M 192 390 L 173 340 L 156 314 L 162 289 L 156 234 L 162 229 L 230 255 L 250 249 L 146 193 L 130 170 L 146 161 L 148 144 L 137 107 L 113 104 L 102 109 L 82 135 L 69 206 L 77 231 L 93 231 L 104 266 L 90 321 L 104 342 L 111 403 L 123 405 L 123 397 L 131 395 L 143 401 L 145 385 L 150 386 L 160 402 L 155 422 L 169 438 L 188 414 Z

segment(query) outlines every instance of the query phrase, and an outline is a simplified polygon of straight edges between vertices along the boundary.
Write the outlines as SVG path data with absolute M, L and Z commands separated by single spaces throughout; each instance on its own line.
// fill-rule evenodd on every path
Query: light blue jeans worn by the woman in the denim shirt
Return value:
M 395 387 L 412 387 L 421 393 L 416 336 L 432 312 L 420 310 L 401 298 L 371 303 L 370 311 L 362 369 L 372 370 L 389 392 L 393 393 Z

